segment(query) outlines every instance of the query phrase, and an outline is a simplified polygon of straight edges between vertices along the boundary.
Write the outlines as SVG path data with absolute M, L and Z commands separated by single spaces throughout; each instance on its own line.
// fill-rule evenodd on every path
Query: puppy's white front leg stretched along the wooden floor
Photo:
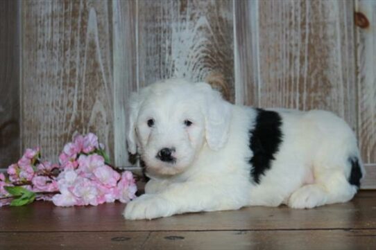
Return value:
M 245 197 L 239 199 L 239 195 L 231 193 L 222 185 L 208 186 L 196 181 L 171 184 L 161 193 L 145 194 L 128 203 L 124 217 L 127 220 L 151 220 L 179 213 L 238 209 L 246 204 Z

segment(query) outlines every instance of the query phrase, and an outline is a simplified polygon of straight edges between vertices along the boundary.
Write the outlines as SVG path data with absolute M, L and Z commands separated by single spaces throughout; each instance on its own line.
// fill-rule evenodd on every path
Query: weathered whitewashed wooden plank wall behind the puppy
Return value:
M 13 152 L 40 145 L 56 160 L 71 134 L 92 131 L 127 166 L 130 92 L 217 72 L 232 102 L 339 114 L 359 136 L 364 187 L 376 188 L 375 1 L 31 0 L 19 9 L 20 97 L 17 84 L 10 93 L 22 140 L 7 139 Z

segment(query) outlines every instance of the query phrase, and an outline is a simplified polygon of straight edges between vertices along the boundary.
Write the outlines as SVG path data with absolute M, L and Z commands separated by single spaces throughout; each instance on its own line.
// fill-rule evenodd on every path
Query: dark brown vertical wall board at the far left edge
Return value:
M 19 1 L 0 1 L 0 168 L 19 157 Z

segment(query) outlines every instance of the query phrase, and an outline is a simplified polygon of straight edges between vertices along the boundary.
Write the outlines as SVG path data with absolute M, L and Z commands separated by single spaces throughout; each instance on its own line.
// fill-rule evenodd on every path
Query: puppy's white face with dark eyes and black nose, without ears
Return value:
M 175 175 L 191 165 L 204 142 L 205 119 L 187 96 L 152 95 L 136 123 L 148 172 Z

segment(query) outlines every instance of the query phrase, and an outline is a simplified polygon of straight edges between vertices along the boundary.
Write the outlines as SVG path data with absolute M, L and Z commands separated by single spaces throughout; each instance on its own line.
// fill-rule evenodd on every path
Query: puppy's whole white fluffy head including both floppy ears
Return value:
M 219 150 L 228 138 L 230 104 L 203 82 L 156 82 L 133 93 L 129 107 L 128 150 L 151 174 L 183 172 L 205 144 Z

